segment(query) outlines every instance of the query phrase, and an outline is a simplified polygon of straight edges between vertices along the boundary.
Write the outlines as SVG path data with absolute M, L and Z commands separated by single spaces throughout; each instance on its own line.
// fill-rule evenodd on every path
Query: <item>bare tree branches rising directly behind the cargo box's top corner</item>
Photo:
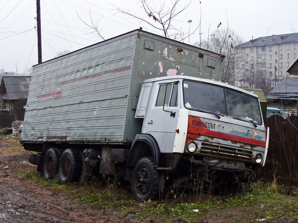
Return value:
M 181 0 L 171 0 L 169 4 L 166 4 L 165 0 L 161 0 L 160 4 L 156 1 L 139 0 L 141 8 L 144 10 L 146 17 L 143 18 L 138 13 L 131 12 L 130 10 L 122 10 L 115 7 L 118 12 L 132 16 L 138 19 L 142 23 L 145 23 L 155 29 L 161 30 L 165 37 L 173 39 L 184 39 L 181 29 L 177 29 L 176 25 L 179 22 L 177 20 L 178 15 L 183 12 L 190 5 L 191 1 L 184 6 L 180 7 Z M 167 1 L 169 2 L 169 1 Z M 190 21 L 190 20 L 189 20 Z

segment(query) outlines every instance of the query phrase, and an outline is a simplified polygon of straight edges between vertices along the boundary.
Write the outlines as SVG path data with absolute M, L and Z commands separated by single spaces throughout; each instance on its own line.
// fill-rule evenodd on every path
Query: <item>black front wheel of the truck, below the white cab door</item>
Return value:
M 164 190 L 164 174 L 153 169 L 151 157 L 141 158 L 134 168 L 132 191 L 137 200 L 158 199 Z

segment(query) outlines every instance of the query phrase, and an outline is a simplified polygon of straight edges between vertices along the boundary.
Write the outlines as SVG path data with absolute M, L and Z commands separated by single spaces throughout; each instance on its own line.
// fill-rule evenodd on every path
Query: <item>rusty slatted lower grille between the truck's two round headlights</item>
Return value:
M 250 151 L 235 149 L 230 147 L 210 145 L 207 143 L 202 143 L 199 155 L 210 156 L 210 157 L 215 157 L 220 159 L 244 161 L 244 162 L 253 161 L 253 154 Z

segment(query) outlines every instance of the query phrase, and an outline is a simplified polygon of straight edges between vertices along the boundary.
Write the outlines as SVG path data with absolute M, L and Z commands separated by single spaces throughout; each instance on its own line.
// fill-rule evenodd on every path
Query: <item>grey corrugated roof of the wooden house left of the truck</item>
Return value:
M 1 85 L 4 84 L 9 100 L 26 99 L 28 97 L 30 76 L 3 76 Z

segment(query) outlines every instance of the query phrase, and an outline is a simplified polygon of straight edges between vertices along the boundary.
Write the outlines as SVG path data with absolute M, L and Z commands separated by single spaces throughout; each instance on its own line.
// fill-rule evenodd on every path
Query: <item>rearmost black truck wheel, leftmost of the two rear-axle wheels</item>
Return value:
M 56 148 L 49 148 L 44 157 L 44 179 L 53 180 L 58 172 L 59 153 Z

